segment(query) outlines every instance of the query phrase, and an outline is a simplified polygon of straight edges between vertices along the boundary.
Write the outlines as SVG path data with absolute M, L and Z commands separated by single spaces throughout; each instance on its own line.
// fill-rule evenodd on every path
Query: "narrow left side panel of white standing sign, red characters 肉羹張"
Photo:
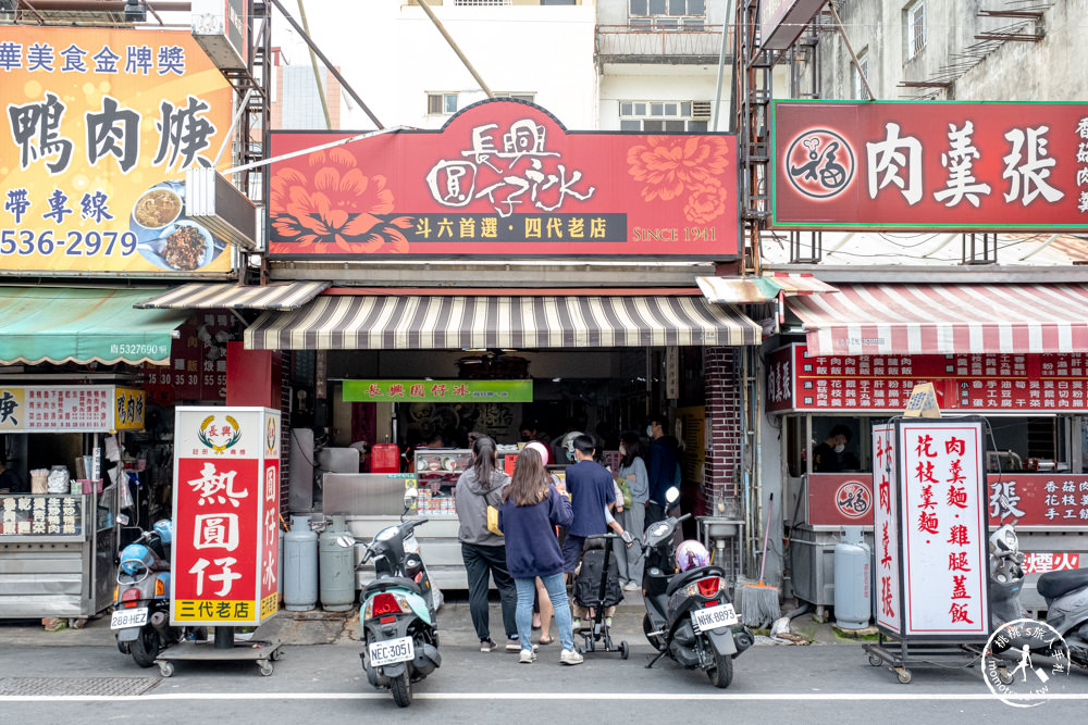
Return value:
M 876 571 L 877 626 L 897 637 L 903 628 L 900 591 L 899 492 L 895 485 L 895 428 L 873 426 L 874 562 Z

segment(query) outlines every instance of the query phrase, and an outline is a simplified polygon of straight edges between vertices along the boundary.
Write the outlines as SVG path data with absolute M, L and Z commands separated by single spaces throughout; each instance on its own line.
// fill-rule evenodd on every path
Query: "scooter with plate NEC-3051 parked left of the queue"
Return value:
M 364 545 L 359 562 L 361 567 L 373 561 L 375 573 L 374 580 L 359 596 L 364 645 L 359 658 L 367 682 L 392 690 L 393 700 L 401 708 L 411 704 L 412 683 L 442 664 L 434 588 L 413 534 L 426 518 L 405 521 L 416 496 L 416 489 L 408 489 L 400 523 L 375 534 Z M 337 538 L 337 543 L 353 547 L 357 542 L 346 534 Z

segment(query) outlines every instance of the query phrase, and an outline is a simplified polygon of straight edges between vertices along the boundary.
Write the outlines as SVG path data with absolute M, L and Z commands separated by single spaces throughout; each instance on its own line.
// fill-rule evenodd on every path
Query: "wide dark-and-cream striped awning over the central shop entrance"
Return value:
M 251 350 L 758 345 L 759 325 L 701 297 L 321 296 L 267 312 Z

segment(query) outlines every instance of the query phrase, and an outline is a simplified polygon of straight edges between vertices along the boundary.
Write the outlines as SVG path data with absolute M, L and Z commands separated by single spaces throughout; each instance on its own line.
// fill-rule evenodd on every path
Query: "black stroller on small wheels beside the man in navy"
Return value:
M 610 627 L 605 618 L 605 609 L 623 601 L 623 588 L 619 585 L 619 567 L 613 558 L 611 540 L 615 534 L 598 534 L 585 538 L 582 563 L 574 577 L 574 602 L 579 607 L 593 610 L 590 628 L 580 633 L 585 639 L 585 652 L 619 652 L 626 660 L 631 651 L 626 641 L 619 647 L 613 643 Z M 578 635 L 579 633 L 574 633 Z

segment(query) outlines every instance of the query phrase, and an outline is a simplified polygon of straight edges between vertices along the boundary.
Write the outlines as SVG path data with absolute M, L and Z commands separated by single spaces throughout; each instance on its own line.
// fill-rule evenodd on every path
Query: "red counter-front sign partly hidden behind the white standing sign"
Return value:
M 876 465 L 874 468 L 879 471 Z M 870 474 L 814 473 L 807 482 L 808 525 L 832 529 L 873 525 L 873 505 L 866 505 L 879 496 L 873 491 Z M 1086 474 L 990 473 L 986 486 L 992 526 L 1014 524 L 1017 530 L 1088 528 Z M 850 512 L 857 515 L 850 516 Z

